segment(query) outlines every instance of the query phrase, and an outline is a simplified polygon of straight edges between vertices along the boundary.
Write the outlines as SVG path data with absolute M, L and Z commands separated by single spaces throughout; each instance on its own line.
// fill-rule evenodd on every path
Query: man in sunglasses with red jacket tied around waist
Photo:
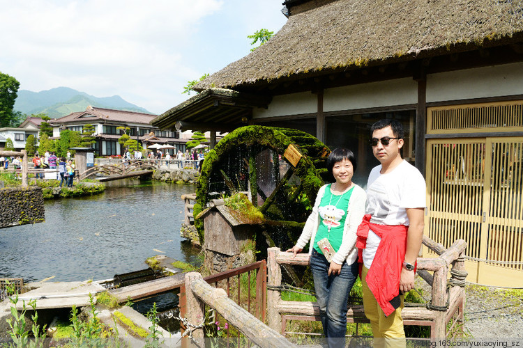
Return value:
M 416 258 L 423 237 L 425 180 L 401 157 L 404 131 L 397 120 L 371 128 L 372 152 L 381 165 L 367 182 L 366 215 L 358 227 L 363 306 L 374 338 L 404 346 L 403 294 L 414 287 Z

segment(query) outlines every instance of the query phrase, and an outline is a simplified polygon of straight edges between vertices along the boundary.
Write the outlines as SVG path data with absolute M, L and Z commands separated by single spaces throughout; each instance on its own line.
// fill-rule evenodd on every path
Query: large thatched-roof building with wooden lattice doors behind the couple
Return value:
M 370 126 L 395 118 L 427 181 L 425 235 L 468 243 L 468 280 L 523 279 L 523 1 L 287 0 L 271 40 L 153 120 L 162 129 L 292 127 L 378 162 Z M 425 255 L 428 255 L 425 250 Z M 515 282 L 515 279 L 519 281 Z

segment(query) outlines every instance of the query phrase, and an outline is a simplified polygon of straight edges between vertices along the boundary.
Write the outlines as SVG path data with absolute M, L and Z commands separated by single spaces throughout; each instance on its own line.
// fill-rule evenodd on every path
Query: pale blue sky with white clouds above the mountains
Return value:
M 153 113 L 189 96 L 187 81 L 249 54 L 277 32 L 282 0 L 0 0 L 0 72 L 20 89 L 66 86 L 120 95 Z

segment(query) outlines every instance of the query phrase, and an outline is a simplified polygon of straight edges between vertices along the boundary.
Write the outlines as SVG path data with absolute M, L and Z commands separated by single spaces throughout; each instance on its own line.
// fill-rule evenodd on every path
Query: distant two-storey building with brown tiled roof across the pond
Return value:
M 151 138 L 154 136 L 154 143 L 172 145 L 174 151 L 185 151 L 185 143 L 188 139 L 181 139 L 180 132 L 176 130 L 160 130 L 152 126 L 150 122 L 155 117 L 156 115 L 149 113 L 87 106 L 85 111 L 73 112 L 68 116 L 50 120 L 49 123 L 53 127 L 53 137 L 59 137 L 64 129 L 82 132 L 84 125 L 93 125 L 94 136 L 96 136 L 93 147 L 100 156 L 123 155 L 123 147 L 118 142 L 123 132 L 117 129 L 121 126 L 129 127 L 127 134 L 145 147 L 148 141 L 151 143 Z

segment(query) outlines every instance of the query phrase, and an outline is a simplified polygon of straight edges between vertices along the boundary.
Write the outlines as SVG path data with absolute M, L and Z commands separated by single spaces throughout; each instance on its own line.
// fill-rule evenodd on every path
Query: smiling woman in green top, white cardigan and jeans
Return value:
M 358 276 L 356 229 L 367 195 L 352 182 L 356 157 L 351 150 L 335 149 L 328 156 L 327 168 L 335 182 L 319 189 L 298 242 L 287 252 L 296 255 L 311 241 L 310 269 L 324 334 L 329 347 L 343 347 L 347 301 Z

